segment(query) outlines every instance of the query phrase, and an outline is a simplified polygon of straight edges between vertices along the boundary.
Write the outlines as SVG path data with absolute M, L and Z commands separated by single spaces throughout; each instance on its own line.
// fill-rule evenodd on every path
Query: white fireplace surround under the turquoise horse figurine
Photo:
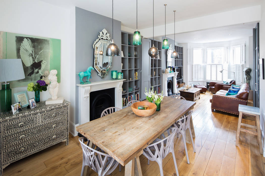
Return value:
M 122 108 L 122 84 L 125 79 L 77 84 L 78 86 L 78 125 L 89 122 L 90 119 L 90 92 L 115 88 L 115 107 Z

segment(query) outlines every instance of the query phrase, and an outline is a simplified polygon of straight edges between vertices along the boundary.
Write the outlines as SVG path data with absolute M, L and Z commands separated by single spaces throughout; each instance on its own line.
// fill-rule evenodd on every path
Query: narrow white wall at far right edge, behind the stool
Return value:
M 265 58 L 265 1 L 262 1 L 261 5 L 261 20 L 259 26 L 259 58 Z M 262 128 L 262 133 L 264 135 L 265 130 L 265 80 L 260 79 L 260 126 Z M 264 137 L 264 136 L 263 136 Z M 264 140 L 264 138 L 263 138 Z M 265 141 L 265 140 L 264 140 Z M 263 156 L 265 156 L 265 144 L 263 142 Z

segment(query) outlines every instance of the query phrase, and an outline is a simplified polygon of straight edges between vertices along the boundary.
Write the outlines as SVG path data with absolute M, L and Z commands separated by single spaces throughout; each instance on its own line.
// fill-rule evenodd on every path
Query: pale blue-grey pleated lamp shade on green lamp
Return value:
M 0 82 L 24 79 L 21 59 L 0 59 Z

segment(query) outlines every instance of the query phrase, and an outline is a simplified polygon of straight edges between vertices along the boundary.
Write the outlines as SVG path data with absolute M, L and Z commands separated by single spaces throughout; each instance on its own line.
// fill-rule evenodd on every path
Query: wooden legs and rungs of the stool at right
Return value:
M 253 114 L 249 114 L 249 113 L 247 113 L 247 114 L 253 116 Z M 260 123 L 259 123 L 259 115 L 255 115 L 256 126 L 242 123 L 242 115 L 243 115 L 243 113 L 241 111 L 239 111 L 238 125 L 237 125 L 237 132 L 236 132 L 236 146 L 238 146 L 240 131 L 247 132 L 247 133 L 250 133 L 250 134 L 254 134 L 254 135 L 257 135 L 257 138 L 258 138 L 259 152 L 260 152 L 260 154 L 263 154 Z M 241 129 L 241 126 L 254 128 L 254 129 L 257 130 L 257 132 L 256 131 L 250 131 L 250 130 L 247 130 L 247 129 Z

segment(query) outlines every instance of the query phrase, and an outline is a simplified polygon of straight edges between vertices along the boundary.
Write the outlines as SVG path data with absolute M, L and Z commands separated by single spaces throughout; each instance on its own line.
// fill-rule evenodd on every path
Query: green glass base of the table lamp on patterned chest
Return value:
M 11 111 L 12 90 L 9 83 L 2 83 L 0 90 L 0 112 L 5 113 Z

